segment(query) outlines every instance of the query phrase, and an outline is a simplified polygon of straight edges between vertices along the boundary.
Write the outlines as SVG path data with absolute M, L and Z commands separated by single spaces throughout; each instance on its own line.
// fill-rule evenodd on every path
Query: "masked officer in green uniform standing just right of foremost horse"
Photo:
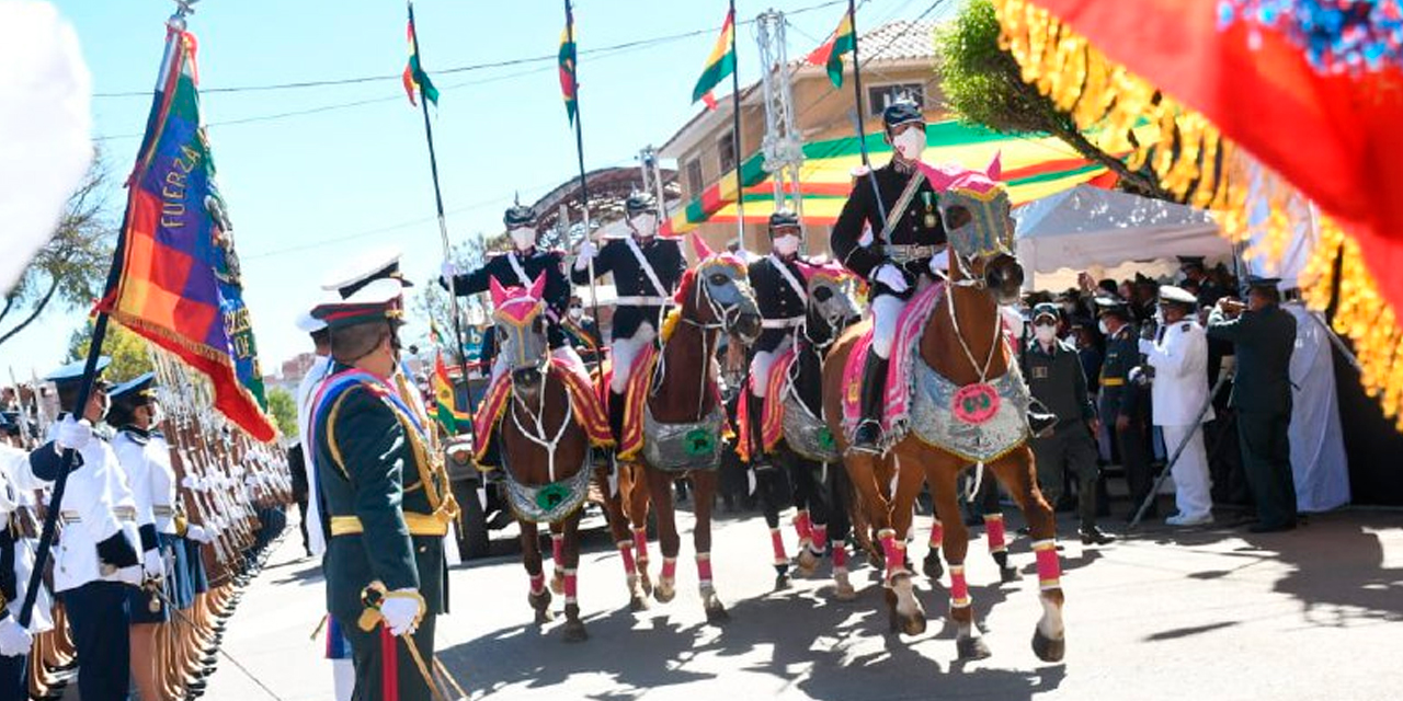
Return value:
M 1096 408 L 1076 349 L 1056 336 L 1059 320 L 1056 304 L 1033 307 L 1033 339 L 1021 355 L 1028 390 L 1058 418 L 1052 435 L 1033 439 L 1038 484 L 1048 503 L 1056 505 L 1065 472 L 1076 475 L 1082 543 L 1104 545 L 1115 538 L 1096 527 Z

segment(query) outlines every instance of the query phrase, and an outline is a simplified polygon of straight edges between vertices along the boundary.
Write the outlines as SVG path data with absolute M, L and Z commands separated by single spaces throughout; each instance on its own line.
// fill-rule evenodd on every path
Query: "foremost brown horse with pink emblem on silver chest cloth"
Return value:
M 1052 509 L 1038 491 L 1026 421 L 1030 394 L 1012 363 L 999 304 L 1017 299 L 1023 268 L 1012 254 L 1013 222 L 1007 191 L 998 184 L 995 160 L 984 171 L 922 165 L 940 192 L 937 206 L 948 234 L 951 272 L 941 297 L 920 329 L 912 358 L 911 416 L 906 430 L 888 436 L 884 456 L 847 450 L 843 432 L 843 381 L 849 356 L 870 324 L 850 328 L 829 352 L 824 401 L 829 428 L 845 450 L 845 465 L 866 516 L 878 529 L 885 558 L 885 603 L 891 629 L 918 635 L 925 611 L 912 587 L 905 558 L 912 505 L 925 482 L 932 486 L 940 537 L 950 572 L 950 618 L 957 627 L 960 659 L 989 655 L 974 621 L 964 559 L 969 533 L 960 517 L 957 482 L 975 465 L 978 482 L 992 472 L 1023 510 L 1041 582 L 1042 617 L 1033 651 L 1045 662 L 1065 652 L 1063 593 Z M 895 353 L 906 353 L 897 348 Z M 894 494 L 887 485 L 895 478 Z

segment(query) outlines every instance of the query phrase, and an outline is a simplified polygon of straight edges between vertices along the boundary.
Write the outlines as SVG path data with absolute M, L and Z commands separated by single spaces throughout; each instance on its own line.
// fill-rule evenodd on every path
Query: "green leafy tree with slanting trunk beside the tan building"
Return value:
M 999 48 L 999 18 L 991 0 L 969 0 L 955 21 L 936 32 L 936 45 L 940 87 L 960 119 L 1003 133 L 1049 133 L 1115 172 L 1127 192 L 1174 199 L 1152 170 L 1131 171 L 1125 161 L 1087 139 L 1072 115 L 1058 109 L 1037 86 L 1023 81 L 1019 62 Z

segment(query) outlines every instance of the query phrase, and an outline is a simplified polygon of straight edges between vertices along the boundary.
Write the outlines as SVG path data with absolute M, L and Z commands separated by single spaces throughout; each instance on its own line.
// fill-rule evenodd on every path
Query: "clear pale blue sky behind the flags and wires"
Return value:
M 824 3 L 742 0 L 737 15 L 746 21 L 769 7 L 793 11 Z M 102 142 L 108 160 L 125 174 L 145 128 L 163 22 L 174 4 L 56 4 L 77 28 L 94 91 L 143 94 L 93 102 L 97 135 L 108 137 Z M 870 0 L 859 11 L 859 25 L 913 18 L 929 6 L 929 0 Z M 790 57 L 815 48 L 842 11 L 842 4 L 833 4 L 793 14 Z M 499 231 L 513 192 L 530 202 L 577 174 L 554 60 L 443 72 L 554 56 L 563 3 L 418 0 L 415 14 L 425 67 L 442 91 L 434 136 L 449 233 L 460 241 Z M 723 0 L 575 3 L 586 167 L 636 164 L 643 146 L 661 146 L 699 109 L 689 102 L 692 86 L 724 15 Z M 393 243 L 404 248 L 405 272 L 419 285 L 438 275 L 441 247 L 422 118 L 410 108 L 397 77 L 405 62 L 404 27 L 404 3 L 394 0 L 203 0 L 189 20 L 199 38 L 205 119 L 231 207 L 265 373 L 307 349 L 292 321 L 316 297 L 323 273 L 347 257 Z M 697 29 L 704 32 L 588 53 Z M 738 43 L 741 80 L 756 80 L 753 25 L 739 28 Z M 361 76 L 396 77 L 307 90 L 208 93 Z M 355 101 L 375 102 L 333 107 Z M 220 125 L 318 108 L 327 109 Z M 116 217 L 122 198 L 112 199 Z M 58 365 L 69 332 L 80 322 L 81 314 L 46 314 L 6 343 L 0 363 L 22 376 L 32 365 L 42 374 Z

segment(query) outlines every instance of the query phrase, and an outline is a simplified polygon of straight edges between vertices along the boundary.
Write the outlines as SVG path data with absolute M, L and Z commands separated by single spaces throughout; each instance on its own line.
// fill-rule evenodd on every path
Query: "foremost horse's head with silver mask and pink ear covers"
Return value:
M 950 244 L 955 285 L 986 289 L 999 304 L 1019 299 L 1023 266 L 1013 255 L 1009 191 L 999 182 L 999 157 L 985 171 L 922 164 L 940 192 L 940 219 Z

